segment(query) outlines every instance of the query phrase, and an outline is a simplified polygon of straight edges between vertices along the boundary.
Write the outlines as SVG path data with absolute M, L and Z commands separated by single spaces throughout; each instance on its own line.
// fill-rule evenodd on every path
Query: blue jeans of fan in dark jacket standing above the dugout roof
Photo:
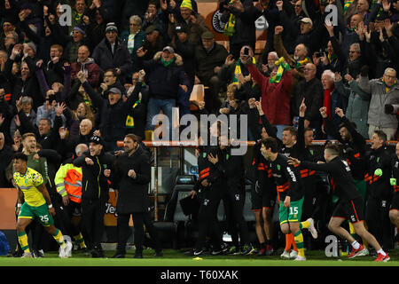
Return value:
M 168 131 L 169 131 L 169 138 L 172 137 L 172 108 L 176 106 L 176 99 L 153 99 L 150 98 L 148 101 L 148 106 L 147 106 L 147 123 L 145 126 L 145 130 L 153 130 L 154 125 L 152 125 L 152 120 L 153 116 L 156 114 L 160 113 L 160 110 L 162 110 L 163 114 L 168 116 L 169 119 L 169 125 Z

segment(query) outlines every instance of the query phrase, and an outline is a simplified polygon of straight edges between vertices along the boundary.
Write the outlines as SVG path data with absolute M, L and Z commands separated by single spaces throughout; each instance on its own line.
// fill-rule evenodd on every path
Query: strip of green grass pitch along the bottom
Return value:
M 399 249 L 389 252 L 387 263 L 374 263 L 372 256 L 355 259 L 326 257 L 319 250 L 306 251 L 307 261 L 294 262 L 281 260 L 276 256 L 184 256 L 184 250 L 165 249 L 163 257 L 153 256 L 153 249 L 145 249 L 143 259 L 132 258 L 133 250 L 128 250 L 126 258 L 113 259 L 114 251 L 106 251 L 106 258 L 91 258 L 73 252 L 70 258 L 61 259 L 57 252 L 47 252 L 43 258 L 20 258 L 0 256 L 0 267 L 4 266 L 399 266 Z

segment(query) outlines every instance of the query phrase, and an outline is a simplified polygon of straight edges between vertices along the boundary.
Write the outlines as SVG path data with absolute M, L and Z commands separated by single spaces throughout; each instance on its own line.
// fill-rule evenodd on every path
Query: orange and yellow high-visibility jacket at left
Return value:
M 57 192 L 62 196 L 69 196 L 71 201 L 82 202 L 82 168 L 66 163 L 59 167 L 54 183 Z

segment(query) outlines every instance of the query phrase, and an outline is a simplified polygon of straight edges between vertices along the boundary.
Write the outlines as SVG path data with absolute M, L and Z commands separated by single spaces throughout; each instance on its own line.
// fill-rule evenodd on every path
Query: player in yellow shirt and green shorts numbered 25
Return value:
M 15 170 L 13 178 L 18 187 L 17 235 L 20 247 L 24 250 L 22 257 L 32 257 L 25 228 L 34 218 L 38 218 L 47 233 L 51 233 L 59 243 L 59 257 L 71 256 L 72 243 L 64 241 L 61 231 L 54 226 L 52 217 L 55 215 L 55 209 L 52 207 L 42 175 L 27 168 L 26 154 L 15 154 L 13 165 Z

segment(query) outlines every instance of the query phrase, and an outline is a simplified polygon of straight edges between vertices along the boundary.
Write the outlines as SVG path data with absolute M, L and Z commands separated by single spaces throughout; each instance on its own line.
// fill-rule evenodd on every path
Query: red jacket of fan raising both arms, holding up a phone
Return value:
M 293 83 L 291 70 L 287 71 L 279 83 L 269 83 L 270 77 L 265 77 L 253 65 L 247 66 L 249 73 L 262 88 L 262 110 L 271 124 L 291 125 L 289 91 Z

